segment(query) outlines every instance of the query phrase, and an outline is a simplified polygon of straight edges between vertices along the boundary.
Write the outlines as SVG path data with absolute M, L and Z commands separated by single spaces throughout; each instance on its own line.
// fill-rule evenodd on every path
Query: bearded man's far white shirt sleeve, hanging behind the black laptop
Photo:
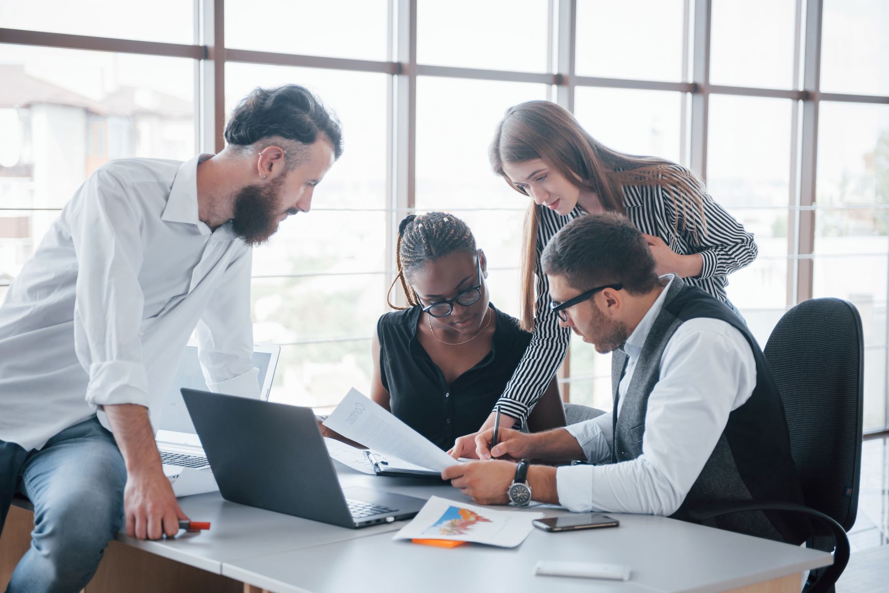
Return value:
M 253 366 L 250 314 L 252 249 L 245 249 L 225 270 L 220 291 L 207 303 L 197 324 L 197 357 L 211 391 L 260 397 L 259 369 Z

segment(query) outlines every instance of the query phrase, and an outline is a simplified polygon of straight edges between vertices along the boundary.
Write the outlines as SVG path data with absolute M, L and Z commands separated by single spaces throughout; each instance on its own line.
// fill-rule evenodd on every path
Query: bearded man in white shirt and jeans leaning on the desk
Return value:
M 212 390 L 259 396 L 252 245 L 308 212 L 341 130 L 288 84 L 244 98 L 225 138 L 185 163 L 100 167 L 0 306 L 0 529 L 15 493 L 36 521 L 11 593 L 82 589 L 122 525 L 179 531 L 152 421 L 193 331 Z

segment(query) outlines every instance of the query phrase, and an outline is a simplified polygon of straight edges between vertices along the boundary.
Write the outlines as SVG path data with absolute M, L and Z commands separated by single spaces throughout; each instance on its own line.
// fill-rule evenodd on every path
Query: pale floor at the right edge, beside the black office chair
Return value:
M 889 592 L 889 438 L 862 445 L 861 495 L 849 541 L 852 557 L 837 593 Z

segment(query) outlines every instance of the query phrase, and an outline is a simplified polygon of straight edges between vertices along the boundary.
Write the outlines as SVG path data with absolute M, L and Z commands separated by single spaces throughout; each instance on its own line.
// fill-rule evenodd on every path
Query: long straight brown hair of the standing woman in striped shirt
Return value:
M 673 228 L 678 231 L 679 211 L 683 228 L 695 235 L 704 232 L 687 215 L 695 208 L 706 225 L 703 211 L 703 182 L 691 171 L 657 156 L 628 155 L 598 142 L 583 129 L 567 109 L 546 100 L 530 100 L 509 108 L 488 148 L 491 167 L 509 187 L 527 196 L 503 172 L 504 163 L 522 163 L 540 158 L 582 190 L 593 192 L 607 211 L 626 214 L 624 186 L 663 188 L 676 206 Z M 537 271 L 537 232 L 540 208 L 532 201 L 522 233 L 522 328 L 534 327 L 534 273 Z

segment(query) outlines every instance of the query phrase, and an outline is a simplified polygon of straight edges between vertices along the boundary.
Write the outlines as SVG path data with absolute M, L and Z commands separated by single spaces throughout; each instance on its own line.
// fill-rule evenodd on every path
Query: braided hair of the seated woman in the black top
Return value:
M 392 309 L 404 310 L 420 304 L 416 293 L 407 283 L 407 275 L 421 268 L 428 261 L 450 255 L 453 252 L 476 252 L 476 238 L 465 222 L 445 212 L 429 212 L 417 216 L 410 214 L 398 225 L 396 265 L 398 275 L 389 285 L 386 302 Z M 401 281 L 404 296 L 411 307 L 398 307 L 391 300 L 392 288 Z

